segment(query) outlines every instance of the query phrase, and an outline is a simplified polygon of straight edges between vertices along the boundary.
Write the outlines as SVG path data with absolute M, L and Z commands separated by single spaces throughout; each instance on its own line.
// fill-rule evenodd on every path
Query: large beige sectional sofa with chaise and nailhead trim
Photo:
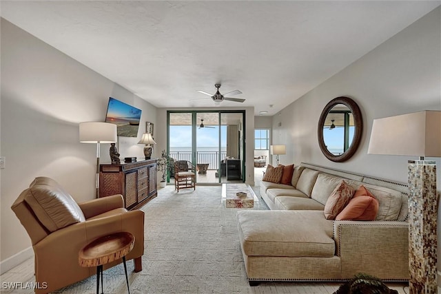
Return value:
M 327 220 L 327 198 L 345 180 L 379 202 L 373 221 Z M 349 280 L 367 273 L 409 280 L 407 185 L 302 163 L 291 185 L 261 182 L 269 211 L 238 211 L 250 284 L 260 281 Z

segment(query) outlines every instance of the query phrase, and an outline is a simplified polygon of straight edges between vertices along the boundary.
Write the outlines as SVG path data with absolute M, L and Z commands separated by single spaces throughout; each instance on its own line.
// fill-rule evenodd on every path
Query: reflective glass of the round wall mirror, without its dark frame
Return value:
M 352 144 L 355 125 L 351 110 L 344 104 L 332 107 L 323 124 L 323 140 L 326 149 L 335 156 L 340 156 Z

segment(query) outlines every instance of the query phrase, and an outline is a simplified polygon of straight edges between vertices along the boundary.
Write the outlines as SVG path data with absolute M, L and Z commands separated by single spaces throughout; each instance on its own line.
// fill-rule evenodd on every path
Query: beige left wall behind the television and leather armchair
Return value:
M 36 176 L 54 178 L 78 202 L 94 198 L 96 145 L 79 143 L 78 124 L 103 121 L 110 96 L 142 110 L 138 138 L 119 137 L 121 158 L 142 157 L 137 143 L 156 107 L 1 19 L 2 272 L 32 254 L 10 206 Z M 101 146 L 101 162 L 109 148 Z

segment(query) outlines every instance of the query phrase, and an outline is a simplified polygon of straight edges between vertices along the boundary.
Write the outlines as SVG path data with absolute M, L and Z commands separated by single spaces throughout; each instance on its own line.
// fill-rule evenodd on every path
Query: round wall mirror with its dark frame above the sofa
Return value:
M 351 98 L 341 96 L 325 106 L 318 120 L 318 145 L 331 161 L 343 162 L 357 151 L 363 131 L 360 108 Z

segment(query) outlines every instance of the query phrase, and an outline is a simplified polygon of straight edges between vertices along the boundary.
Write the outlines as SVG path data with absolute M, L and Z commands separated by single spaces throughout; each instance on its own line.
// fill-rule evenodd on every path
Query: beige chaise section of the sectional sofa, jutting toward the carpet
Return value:
M 340 276 L 334 223 L 323 211 L 238 211 L 236 218 L 250 285 Z

